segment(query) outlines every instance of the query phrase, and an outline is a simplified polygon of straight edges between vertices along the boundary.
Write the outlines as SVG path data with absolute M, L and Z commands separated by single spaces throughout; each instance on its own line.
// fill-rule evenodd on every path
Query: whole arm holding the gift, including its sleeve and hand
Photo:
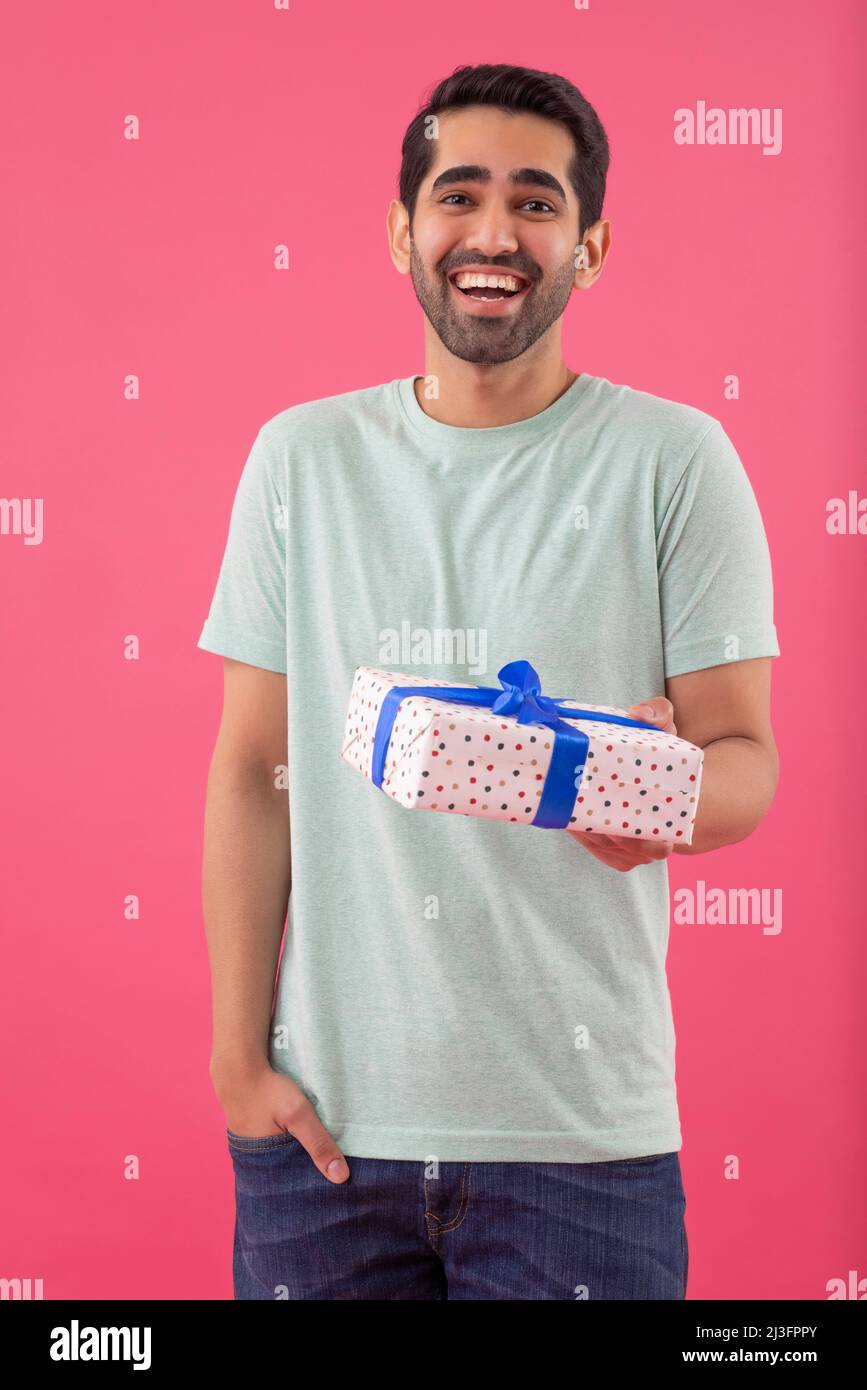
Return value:
M 743 464 L 718 420 L 691 457 L 656 475 L 657 577 L 667 695 L 629 714 L 704 751 L 691 845 L 575 833 L 603 863 L 634 869 L 672 849 L 700 855 L 745 840 L 774 799 L 771 659 L 779 656 L 767 537 Z M 729 660 L 736 651 L 739 659 Z M 645 708 L 649 705 L 650 712 Z M 677 726 L 674 723 L 677 720 Z

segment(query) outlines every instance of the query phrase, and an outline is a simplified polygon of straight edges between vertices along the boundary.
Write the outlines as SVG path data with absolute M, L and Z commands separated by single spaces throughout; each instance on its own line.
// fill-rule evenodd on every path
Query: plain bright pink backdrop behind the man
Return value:
M 867 539 L 825 530 L 829 498 L 866 491 L 864 26 L 843 0 L 17 7 L 1 491 L 44 499 L 44 539 L 0 535 L 0 1276 L 232 1295 L 199 897 L 221 663 L 196 639 L 258 425 L 422 370 L 385 243 L 400 140 L 436 79 L 500 61 L 571 78 L 611 142 L 613 252 L 567 361 L 717 416 L 774 559 L 775 805 L 748 842 L 670 860 L 672 892 L 784 898 L 775 937 L 672 926 L 689 1297 L 867 1276 Z M 699 100 L 782 107 L 782 153 L 675 146 Z

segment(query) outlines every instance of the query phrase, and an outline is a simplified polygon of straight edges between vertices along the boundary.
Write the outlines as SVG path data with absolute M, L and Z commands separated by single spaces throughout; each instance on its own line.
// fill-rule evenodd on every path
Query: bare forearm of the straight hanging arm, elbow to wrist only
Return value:
M 217 749 L 204 815 L 201 903 L 211 965 L 211 1076 L 261 1066 L 290 888 L 289 803 L 265 769 Z

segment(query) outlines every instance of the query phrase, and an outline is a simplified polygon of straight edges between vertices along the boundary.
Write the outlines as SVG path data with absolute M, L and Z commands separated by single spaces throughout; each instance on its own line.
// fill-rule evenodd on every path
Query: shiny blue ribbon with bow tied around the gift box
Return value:
M 543 724 L 553 730 L 554 746 L 547 777 L 539 796 L 536 815 L 529 821 L 529 824 L 540 826 L 543 830 L 563 830 L 564 826 L 568 826 L 591 745 L 589 735 L 584 730 L 575 728 L 574 724 L 567 724 L 560 717 L 561 714 L 568 719 L 593 719 L 606 724 L 625 724 L 629 728 L 652 728 L 654 733 L 660 733 L 657 724 L 645 724 L 641 719 L 629 719 L 627 714 L 602 714 L 592 709 L 572 709 L 563 703 L 564 696 L 554 699 L 543 695 L 539 673 L 529 662 L 507 662 L 497 671 L 497 677 L 499 689 L 495 685 L 393 685 L 382 701 L 374 735 L 371 764 L 374 785 L 382 787 L 392 730 L 400 702 L 407 695 L 431 696 L 446 701 L 449 705 L 482 705 L 489 708 L 492 714 L 514 714 L 518 724 Z

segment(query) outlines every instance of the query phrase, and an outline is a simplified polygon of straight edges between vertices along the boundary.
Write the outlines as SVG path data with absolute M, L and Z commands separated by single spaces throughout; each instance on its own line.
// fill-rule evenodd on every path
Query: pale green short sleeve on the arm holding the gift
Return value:
M 759 503 L 718 420 L 686 463 L 657 528 L 666 676 L 779 656 Z

